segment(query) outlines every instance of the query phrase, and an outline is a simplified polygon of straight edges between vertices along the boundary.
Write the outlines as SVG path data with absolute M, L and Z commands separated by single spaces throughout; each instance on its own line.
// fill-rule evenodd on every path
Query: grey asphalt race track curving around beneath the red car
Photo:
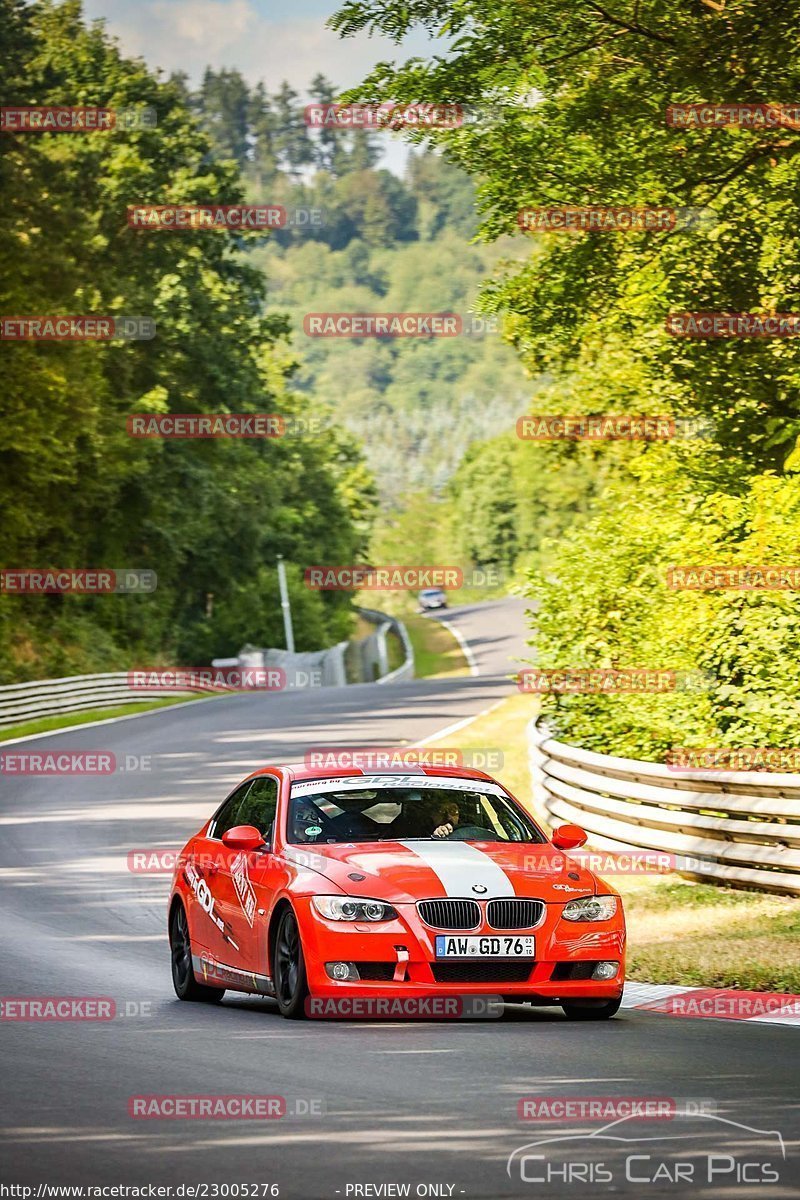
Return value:
M 447 613 L 474 650 L 476 677 L 237 695 L 26 743 L 110 750 L 122 764 L 149 755 L 151 769 L 1 781 L 2 995 L 109 996 L 119 1014 L 0 1021 L 4 1183 L 258 1183 L 277 1184 L 285 1200 L 798 1194 L 796 1028 L 625 1010 L 584 1025 L 523 1006 L 469 1024 L 288 1022 L 266 1000 L 229 992 L 210 1008 L 174 997 L 169 877 L 131 874 L 128 852 L 181 845 L 259 763 L 318 745 L 414 742 L 485 709 L 512 688 L 510 656 L 525 653 L 522 613 L 515 600 Z M 128 1116 L 131 1096 L 167 1093 L 284 1096 L 323 1111 L 273 1121 Z M 631 1181 L 615 1142 L 582 1148 L 584 1182 L 563 1174 L 543 1183 L 540 1160 L 522 1170 L 516 1160 L 510 1175 L 509 1156 L 597 1123 L 521 1121 L 517 1102 L 533 1093 L 702 1099 L 716 1117 L 698 1118 L 699 1140 L 682 1153 L 673 1142 L 668 1154 L 642 1139 L 675 1134 L 679 1122 L 639 1122 Z M 726 1153 L 732 1132 L 736 1165 L 720 1158 L 705 1184 L 704 1156 Z M 658 1156 L 682 1162 L 681 1181 L 662 1165 L 644 1182 Z M 691 1183 L 687 1163 L 697 1166 Z

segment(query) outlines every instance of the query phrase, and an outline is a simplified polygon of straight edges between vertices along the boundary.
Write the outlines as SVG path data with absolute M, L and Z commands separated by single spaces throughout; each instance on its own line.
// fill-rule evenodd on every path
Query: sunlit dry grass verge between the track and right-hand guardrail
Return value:
M 529 696 L 510 696 L 446 743 L 500 754 L 501 766 L 485 769 L 548 827 L 528 770 L 525 726 L 534 715 Z M 625 902 L 628 979 L 800 994 L 798 900 L 693 883 L 674 874 L 618 875 L 608 882 Z

